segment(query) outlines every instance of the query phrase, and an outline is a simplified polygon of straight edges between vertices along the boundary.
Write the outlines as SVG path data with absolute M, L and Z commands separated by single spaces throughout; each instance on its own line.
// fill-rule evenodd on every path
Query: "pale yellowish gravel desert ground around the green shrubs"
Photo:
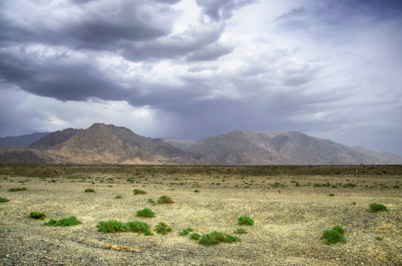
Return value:
M 392 188 L 401 176 L 364 176 L 364 181 L 346 181 L 346 176 L 242 179 L 170 174 L 132 177 L 133 182 L 127 178 L 94 173 L 51 182 L 50 178 L 1 175 L 0 196 L 10 201 L 0 203 L 0 266 L 402 265 L 402 189 Z M 338 183 L 337 188 L 313 187 L 327 182 Z M 356 187 L 344 188 L 339 182 Z M 27 190 L 7 192 L 16 187 Z M 86 188 L 96 193 L 84 193 Z M 147 194 L 134 195 L 134 188 Z M 117 194 L 122 198 L 115 199 Z M 175 202 L 156 206 L 148 202 L 161 195 Z M 386 205 L 389 212 L 367 212 L 373 202 Z M 142 208 L 151 208 L 155 217 L 137 218 L 136 211 Z M 32 211 L 45 213 L 44 221 L 74 215 L 82 224 L 43 226 L 44 221 L 28 218 Z M 237 235 L 242 242 L 202 246 L 178 235 L 187 226 L 200 234 L 215 230 L 232 234 L 243 215 L 250 216 L 254 225 L 243 226 L 248 234 Z M 111 219 L 146 221 L 154 236 L 97 232 L 99 221 Z M 154 227 L 161 221 L 173 231 L 156 234 Z M 347 243 L 324 244 L 323 231 L 338 224 L 347 230 Z M 121 250 L 112 249 L 113 245 Z

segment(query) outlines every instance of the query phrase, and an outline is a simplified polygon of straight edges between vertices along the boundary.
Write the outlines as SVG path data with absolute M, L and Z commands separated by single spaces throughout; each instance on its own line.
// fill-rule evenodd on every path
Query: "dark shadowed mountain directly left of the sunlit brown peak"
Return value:
M 75 129 L 71 127 L 63 130 L 57 130 L 55 132 L 51 132 L 50 134 L 44 136 L 43 138 L 38 139 L 28 147 L 38 150 L 50 149 L 50 147 L 65 142 L 66 140 L 73 137 L 73 135 L 82 130 L 83 129 Z

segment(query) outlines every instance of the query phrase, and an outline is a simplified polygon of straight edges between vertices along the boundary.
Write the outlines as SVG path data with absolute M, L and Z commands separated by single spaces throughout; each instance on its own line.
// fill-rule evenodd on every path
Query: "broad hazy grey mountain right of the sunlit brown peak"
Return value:
M 187 148 L 224 164 L 401 164 L 402 157 L 309 137 L 301 132 L 238 130 L 202 139 Z

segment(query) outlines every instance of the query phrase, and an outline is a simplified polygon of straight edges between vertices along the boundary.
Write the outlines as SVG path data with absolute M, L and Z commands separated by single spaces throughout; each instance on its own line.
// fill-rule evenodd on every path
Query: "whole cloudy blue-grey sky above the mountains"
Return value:
M 402 155 L 399 0 L 1 0 L 0 137 L 301 131 Z

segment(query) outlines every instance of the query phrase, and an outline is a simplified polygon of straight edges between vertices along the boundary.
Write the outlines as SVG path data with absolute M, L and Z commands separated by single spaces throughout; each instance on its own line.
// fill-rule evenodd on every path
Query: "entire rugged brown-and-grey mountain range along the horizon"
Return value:
M 0 148 L 0 163 L 402 164 L 401 156 L 361 146 L 350 147 L 296 131 L 234 130 L 200 141 L 186 141 L 174 137 L 152 139 L 125 127 L 95 123 L 87 129 L 67 128 L 42 134 L 41 138 L 31 139 L 25 148 Z M 22 137 L 7 138 L 21 140 Z

